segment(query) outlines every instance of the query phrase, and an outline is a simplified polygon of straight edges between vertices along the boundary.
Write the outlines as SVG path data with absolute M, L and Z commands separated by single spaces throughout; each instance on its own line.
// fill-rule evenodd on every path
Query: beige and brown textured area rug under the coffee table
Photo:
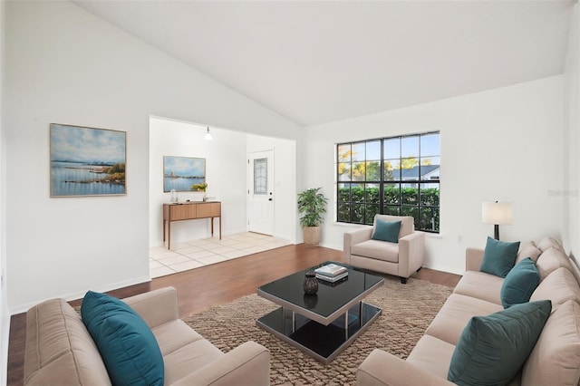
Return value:
M 266 346 L 273 385 L 353 385 L 356 369 L 374 348 L 405 359 L 451 292 L 452 288 L 422 280 L 410 279 L 401 285 L 398 278 L 385 278 L 384 285 L 365 300 L 381 307 L 382 314 L 327 366 L 256 326 L 257 318 L 278 308 L 257 294 L 184 321 L 223 352 L 250 340 Z

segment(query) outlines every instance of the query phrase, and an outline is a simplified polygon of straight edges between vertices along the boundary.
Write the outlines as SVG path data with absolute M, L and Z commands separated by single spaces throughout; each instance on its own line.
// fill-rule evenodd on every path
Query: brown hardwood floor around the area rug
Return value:
M 179 314 L 184 317 L 204 311 L 215 304 L 255 294 L 256 288 L 260 285 L 328 260 L 342 261 L 343 254 L 341 251 L 323 247 L 306 248 L 304 244 L 284 246 L 216 265 L 159 277 L 149 283 L 111 291 L 110 294 L 123 298 L 169 285 L 174 286 L 179 291 Z M 423 268 L 411 277 L 454 287 L 461 276 Z M 71 304 L 79 305 L 81 301 L 73 301 Z M 24 383 L 25 328 L 25 314 L 13 315 L 8 348 L 9 386 L 20 386 Z

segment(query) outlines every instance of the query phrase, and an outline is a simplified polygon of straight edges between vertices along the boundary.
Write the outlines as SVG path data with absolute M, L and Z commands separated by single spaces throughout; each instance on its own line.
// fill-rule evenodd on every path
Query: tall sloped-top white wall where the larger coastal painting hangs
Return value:
M 5 18 L 12 313 L 149 279 L 150 115 L 298 135 L 291 121 L 76 5 L 9 2 Z M 127 131 L 127 195 L 49 198 L 51 122 Z

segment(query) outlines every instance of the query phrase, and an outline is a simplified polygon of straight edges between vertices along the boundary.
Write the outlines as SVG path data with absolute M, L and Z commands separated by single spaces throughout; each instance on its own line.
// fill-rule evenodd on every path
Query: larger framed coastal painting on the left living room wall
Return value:
M 51 123 L 51 197 L 127 194 L 127 133 Z

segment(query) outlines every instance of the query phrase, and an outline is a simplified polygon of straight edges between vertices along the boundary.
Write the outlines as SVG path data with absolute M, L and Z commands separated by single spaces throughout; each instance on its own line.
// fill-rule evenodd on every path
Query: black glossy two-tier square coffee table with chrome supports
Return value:
M 348 276 L 330 284 L 318 279 L 318 293 L 304 294 L 305 271 L 262 285 L 257 294 L 281 305 L 256 324 L 286 343 L 328 364 L 362 333 L 380 314 L 381 308 L 362 302 L 384 279 L 350 265 Z

